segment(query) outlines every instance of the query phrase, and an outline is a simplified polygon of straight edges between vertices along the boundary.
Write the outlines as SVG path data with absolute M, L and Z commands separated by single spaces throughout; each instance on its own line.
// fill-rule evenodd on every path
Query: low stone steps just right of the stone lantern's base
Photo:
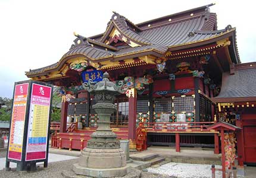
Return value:
M 130 159 L 132 159 L 132 161 L 129 163 L 129 166 L 139 170 L 143 170 L 148 167 L 158 167 L 170 162 L 166 161 L 166 158 L 160 157 L 158 154 L 148 152 L 132 154 L 130 155 Z

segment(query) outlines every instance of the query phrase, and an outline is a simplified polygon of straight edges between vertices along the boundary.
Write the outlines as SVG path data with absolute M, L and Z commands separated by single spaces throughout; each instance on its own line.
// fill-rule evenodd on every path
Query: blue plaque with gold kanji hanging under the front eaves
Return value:
M 81 77 L 83 82 L 88 82 L 89 80 L 92 80 L 93 83 L 96 83 L 102 81 L 103 72 L 98 70 L 83 71 Z

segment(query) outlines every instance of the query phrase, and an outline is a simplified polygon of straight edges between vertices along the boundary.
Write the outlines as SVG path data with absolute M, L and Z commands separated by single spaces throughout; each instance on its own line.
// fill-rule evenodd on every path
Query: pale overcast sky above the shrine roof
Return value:
M 218 29 L 236 27 L 241 62 L 256 61 L 254 1 L 215 1 Z M 116 11 L 141 23 L 213 1 L 8 1 L 0 0 L 0 96 L 13 97 L 25 71 L 51 65 L 73 44 L 73 31 L 85 37 L 103 33 Z

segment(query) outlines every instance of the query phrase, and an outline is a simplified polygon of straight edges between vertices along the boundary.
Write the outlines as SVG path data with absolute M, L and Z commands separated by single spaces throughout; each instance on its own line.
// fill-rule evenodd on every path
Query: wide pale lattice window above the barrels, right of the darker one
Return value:
M 193 104 L 194 101 L 195 101 L 195 98 L 193 98 L 192 96 L 174 97 L 173 110 L 175 113 L 182 113 L 182 112 L 191 113 L 195 109 L 194 104 Z

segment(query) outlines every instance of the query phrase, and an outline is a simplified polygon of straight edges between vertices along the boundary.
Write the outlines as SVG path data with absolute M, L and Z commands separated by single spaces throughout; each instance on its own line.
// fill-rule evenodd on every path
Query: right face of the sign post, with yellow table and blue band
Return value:
M 51 90 L 45 85 L 32 84 L 26 161 L 46 158 Z

